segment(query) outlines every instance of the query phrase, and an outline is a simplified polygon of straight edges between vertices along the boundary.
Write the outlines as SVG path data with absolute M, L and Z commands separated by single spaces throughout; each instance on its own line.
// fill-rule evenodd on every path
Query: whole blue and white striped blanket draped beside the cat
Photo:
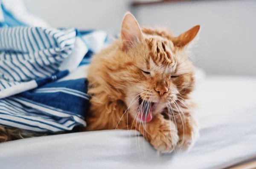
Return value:
M 107 34 L 50 28 L 21 0 L 0 5 L 0 125 L 38 132 L 85 126 L 87 80 L 58 80 L 89 63 Z

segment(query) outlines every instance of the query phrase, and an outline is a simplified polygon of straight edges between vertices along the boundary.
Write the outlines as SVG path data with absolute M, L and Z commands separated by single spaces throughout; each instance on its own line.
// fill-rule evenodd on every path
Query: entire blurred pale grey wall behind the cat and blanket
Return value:
M 131 11 L 141 26 L 175 35 L 200 24 L 194 61 L 211 75 L 256 76 L 256 0 L 24 0 L 53 27 L 119 33 Z

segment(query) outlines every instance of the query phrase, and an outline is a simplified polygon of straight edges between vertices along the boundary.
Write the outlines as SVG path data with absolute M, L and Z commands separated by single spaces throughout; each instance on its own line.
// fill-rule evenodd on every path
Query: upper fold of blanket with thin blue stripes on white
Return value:
M 74 29 L 6 27 L 0 36 L 0 90 L 58 72 L 76 41 Z

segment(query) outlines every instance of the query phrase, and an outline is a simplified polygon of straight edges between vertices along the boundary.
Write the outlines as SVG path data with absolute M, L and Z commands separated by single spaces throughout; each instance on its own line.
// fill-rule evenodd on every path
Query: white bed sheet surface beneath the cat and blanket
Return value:
M 207 77 L 194 95 L 201 130 L 188 153 L 161 156 L 134 131 L 82 132 L 0 144 L 0 168 L 219 169 L 255 158 L 256 77 Z

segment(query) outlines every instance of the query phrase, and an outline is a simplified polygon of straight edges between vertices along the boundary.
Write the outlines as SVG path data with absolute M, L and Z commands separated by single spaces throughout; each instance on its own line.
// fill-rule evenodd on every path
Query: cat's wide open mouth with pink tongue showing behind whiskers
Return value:
M 139 96 L 138 112 L 139 117 L 143 122 L 149 122 L 152 120 L 155 105 L 156 103 L 143 100 L 143 98 Z

